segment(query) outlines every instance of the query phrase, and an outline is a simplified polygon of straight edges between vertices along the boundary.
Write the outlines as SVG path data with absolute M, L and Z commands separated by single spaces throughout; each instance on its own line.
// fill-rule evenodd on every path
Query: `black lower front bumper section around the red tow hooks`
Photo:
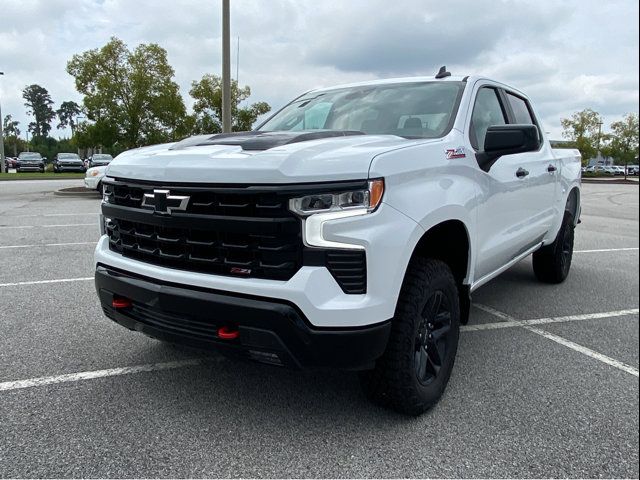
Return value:
M 107 317 L 131 330 L 202 349 L 300 368 L 371 368 L 384 352 L 391 322 L 365 328 L 313 328 L 293 304 L 186 287 L 98 265 L 95 283 Z M 112 306 L 115 297 L 132 302 Z M 221 339 L 229 327 L 236 339 Z

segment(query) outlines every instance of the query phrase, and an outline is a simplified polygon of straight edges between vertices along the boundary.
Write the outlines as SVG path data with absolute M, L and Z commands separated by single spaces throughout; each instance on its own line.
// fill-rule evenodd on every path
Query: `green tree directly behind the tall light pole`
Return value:
M 195 133 L 219 133 L 222 131 L 222 78 L 207 74 L 191 83 L 189 91 L 195 103 Z M 231 81 L 231 123 L 234 132 L 251 130 L 256 119 L 271 110 L 266 102 L 256 102 L 242 108 L 239 104 L 251 96 L 251 88 L 240 88 Z

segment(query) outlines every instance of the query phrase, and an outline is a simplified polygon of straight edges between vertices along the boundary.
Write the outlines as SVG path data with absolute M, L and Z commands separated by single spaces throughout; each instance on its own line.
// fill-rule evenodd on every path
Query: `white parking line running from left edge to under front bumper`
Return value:
M 21 388 L 42 387 L 44 385 L 53 385 L 55 383 L 79 382 L 82 380 L 92 380 L 94 378 L 115 377 L 118 375 L 130 375 L 132 373 L 157 372 L 161 370 L 171 370 L 174 368 L 192 367 L 200 365 L 202 362 L 203 359 L 195 358 L 175 362 L 149 363 L 134 367 L 109 368 L 106 370 L 69 373 L 66 375 L 55 375 L 52 377 L 28 378 L 26 380 L 15 380 L 0 383 L 0 392 L 19 390 Z

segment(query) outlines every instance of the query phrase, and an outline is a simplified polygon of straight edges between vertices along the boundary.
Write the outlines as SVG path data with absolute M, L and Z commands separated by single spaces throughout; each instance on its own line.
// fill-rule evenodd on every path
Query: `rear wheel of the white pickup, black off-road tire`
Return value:
M 573 260 L 574 233 L 573 215 L 565 211 L 555 241 L 533 254 L 533 272 L 538 280 L 544 283 L 562 283 L 566 280 Z

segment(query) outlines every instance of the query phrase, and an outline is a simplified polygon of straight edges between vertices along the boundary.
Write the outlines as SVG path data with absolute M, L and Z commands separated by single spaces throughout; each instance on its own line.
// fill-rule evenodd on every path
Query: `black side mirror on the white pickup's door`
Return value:
M 540 149 L 540 134 L 535 125 L 494 125 L 487 129 L 484 151 L 476 153 L 485 172 L 503 155 L 535 152 Z

